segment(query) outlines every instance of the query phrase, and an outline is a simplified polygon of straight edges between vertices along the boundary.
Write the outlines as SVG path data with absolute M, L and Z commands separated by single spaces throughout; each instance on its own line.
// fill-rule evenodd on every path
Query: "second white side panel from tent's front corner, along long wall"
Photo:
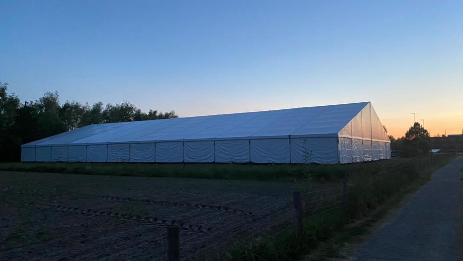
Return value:
M 251 162 L 289 163 L 289 139 L 251 140 Z

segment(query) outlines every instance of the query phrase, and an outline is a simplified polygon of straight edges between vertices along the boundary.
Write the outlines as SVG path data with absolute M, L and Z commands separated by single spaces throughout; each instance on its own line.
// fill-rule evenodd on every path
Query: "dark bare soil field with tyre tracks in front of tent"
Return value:
M 218 258 L 290 221 L 303 186 L 0 171 L 0 259 L 164 260 L 169 224 L 181 228 L 182 259 Z

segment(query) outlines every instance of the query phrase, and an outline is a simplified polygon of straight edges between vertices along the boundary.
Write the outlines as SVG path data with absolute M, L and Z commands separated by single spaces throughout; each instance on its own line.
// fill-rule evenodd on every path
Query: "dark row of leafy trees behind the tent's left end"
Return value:
M 0 82 L 0 161 L 21 158 L 21 145 L 89 124 L 177 118 L 175 111 L 143 112 L 128 101 L 93 105 L 59 101 L 59 94 L 46 92 L 35 101 L 21 102 Z

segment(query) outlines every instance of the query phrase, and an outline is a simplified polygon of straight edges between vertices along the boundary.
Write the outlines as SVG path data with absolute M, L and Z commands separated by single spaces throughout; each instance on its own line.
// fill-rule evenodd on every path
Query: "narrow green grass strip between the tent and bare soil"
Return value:
M 357 164 L 314 165 L 316 181 L 337 182 L 350 173 L 380 172 L 400 166 L 411 159 L 380 160 Z M 93 175 L 148 177 L 191 177 L 259 181 L 294 181 L 304 176 L 304 167 L 293 164 L 160 164 L 88 162 L 3 162 L 0 170 Z

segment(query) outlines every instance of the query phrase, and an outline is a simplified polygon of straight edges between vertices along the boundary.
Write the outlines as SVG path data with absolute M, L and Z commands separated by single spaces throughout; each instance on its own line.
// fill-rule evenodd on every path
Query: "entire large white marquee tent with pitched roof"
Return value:
M 22 145 L 22 161 L 352 163 L 391 158 L 370 102 L 92 124 Z

